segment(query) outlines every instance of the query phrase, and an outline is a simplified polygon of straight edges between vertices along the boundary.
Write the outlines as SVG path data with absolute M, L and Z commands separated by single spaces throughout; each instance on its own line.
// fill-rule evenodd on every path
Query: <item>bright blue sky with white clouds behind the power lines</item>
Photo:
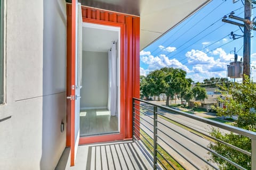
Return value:
M 233 40 L 230 36 L 231 31 L 236 35 L 243 35 L 243 32 L 237 25 L 221 21 L 231 11 L 235 12 L 235 16 L 244 18 L 244 5 L 241 1 L 233 4 L 232 0 L 213 0 L 155 43 L 141 50 L 140 75 L 147 75 L 150 71 L 167 66 L 186 71 L 187 78 L 194 82 L 202 82 L 211 77 L 226 78 L 227 65 L 234 61 L 234 48 L 238 60 L 243 56 L 243 37 L 236 36 L 238 39 Z M 254 13 L 256 15 L 253 8 L 251 19 L 254 18 Z M 255 31 L 251 33 L 255 36 Z M 256 38 L 251 38 L 251 67 L 256 66 L 255 40 Z M 251 78 L 256 81 L 255 69 L 251 70 Z

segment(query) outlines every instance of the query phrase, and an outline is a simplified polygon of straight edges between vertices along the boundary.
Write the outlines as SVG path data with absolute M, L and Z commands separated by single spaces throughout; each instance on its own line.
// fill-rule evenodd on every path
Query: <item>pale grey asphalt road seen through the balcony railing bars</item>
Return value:
M 144 105 L 145 107 L 153 110 L 152 106 Z M 146 120 L 140 119 L 141 124 L 144 124 L 147 128 L 153 131 L 153 113 L 144 109 L 147 115 L 142 115 L 142 117 Z M 185 124 L 195 130 L 198 130 L 202 133 L 209 134 L 211 126 L 193 120 L 191 118 L 173 114 L 166 113 L 165 111 L 158 109 L 158 113 L 163 114 L 166 117 L 170 117 L 172 120 L 180 122 L 181 124 Z M 148 122 L 149 123 L 148 123 Z M 148 133 L 151 137 L 153 137 L 153 133 L 150 132 L 145 126 L 140 125 L 141 129 Z M 162 118 L 158 117 L 158 145 L 163 147 L 166 151 L 171 154 L 171 156 L 177 160 L 183 167 L 186 169 L 214 169 L 217 168 L 215 164 L 207 162 L 207 158 L 209 152 L 207 146 L 210 141 L 206 140 L 202 137 L 199 137 L 197 134 L 189 132 L 180 126 L 172 124 Z M 162 132 L 161 132 L 162 131 Z M 163 133 L 164 132 L 164 133 Z M 167 135 L 169 136 L 167 136 Z M 211 165 L 213 167 L 211 167 Z

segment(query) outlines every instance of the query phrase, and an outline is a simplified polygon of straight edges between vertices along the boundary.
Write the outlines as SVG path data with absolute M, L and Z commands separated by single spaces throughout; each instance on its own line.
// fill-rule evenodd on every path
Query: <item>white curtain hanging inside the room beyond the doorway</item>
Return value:
M 111 116 L 116 115 L 117 105 L 117 82 L 116 82 L 116 43 L 113 42 L 111 50 L 108 53 L 109 57 L 109 95 L 108 95 L 108 109 L 110 110 Z

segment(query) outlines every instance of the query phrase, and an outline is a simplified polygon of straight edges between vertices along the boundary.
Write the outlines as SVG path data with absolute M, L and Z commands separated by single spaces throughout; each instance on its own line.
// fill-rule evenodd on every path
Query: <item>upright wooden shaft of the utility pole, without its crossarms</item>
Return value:
M 250 0 L 245 0 L 244 3 L 244 19 L 251 21 L 252 3 Z M 251 72 L 251 22 L 244 22 L 244 54 L 243 54 L 243 81 L 244 75 L 250 78 Z

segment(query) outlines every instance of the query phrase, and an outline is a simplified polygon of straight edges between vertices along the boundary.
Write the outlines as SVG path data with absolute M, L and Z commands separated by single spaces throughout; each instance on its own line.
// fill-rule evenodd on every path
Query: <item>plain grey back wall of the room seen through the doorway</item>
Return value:
M 81 109 L 107 108 L 108 53 L 83 51 Z

